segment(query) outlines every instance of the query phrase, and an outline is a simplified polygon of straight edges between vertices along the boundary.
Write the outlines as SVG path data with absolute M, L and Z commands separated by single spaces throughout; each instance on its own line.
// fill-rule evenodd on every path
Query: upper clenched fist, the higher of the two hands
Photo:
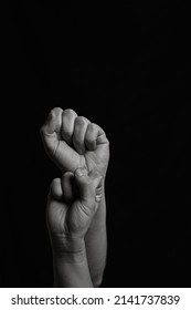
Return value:
M 41 128 L 47 155 L 62 172 L 77 168 L 97 170 L 106 175 L 109 161 L 109 143 L 105 132 L 86 117 L 71 110 L 54 107 Z

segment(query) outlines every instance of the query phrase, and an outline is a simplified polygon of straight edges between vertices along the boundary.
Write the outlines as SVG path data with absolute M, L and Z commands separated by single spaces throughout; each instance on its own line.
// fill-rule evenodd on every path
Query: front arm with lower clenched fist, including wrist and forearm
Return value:
M 52 182 L 46 220 L 53 247 L 54 287 L 93 287 L 84 237 L 100 200 L 102 176 L 77 169 Z

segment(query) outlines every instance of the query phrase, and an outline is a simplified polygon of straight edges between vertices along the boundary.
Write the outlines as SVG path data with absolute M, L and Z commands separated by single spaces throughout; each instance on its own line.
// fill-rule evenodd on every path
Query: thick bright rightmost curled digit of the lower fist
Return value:
M 79 199 L 89 208 L 95 207 L 100 200 L 103 177 L 98 172 L 87 173 L 84 168 L 77 168 L 74 173 L 75 183 L 78 188 Z

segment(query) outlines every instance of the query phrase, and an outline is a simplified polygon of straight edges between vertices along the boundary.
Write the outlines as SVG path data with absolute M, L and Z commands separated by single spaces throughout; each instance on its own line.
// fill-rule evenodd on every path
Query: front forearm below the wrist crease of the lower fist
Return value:
M 85 245 L 77 254 L 53 254 L 54 287 L 92 288 Z

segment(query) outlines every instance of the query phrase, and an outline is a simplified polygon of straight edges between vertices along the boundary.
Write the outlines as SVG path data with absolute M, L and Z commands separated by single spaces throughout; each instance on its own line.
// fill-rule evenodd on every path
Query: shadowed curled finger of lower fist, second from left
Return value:
M 71 172 L 66 172 L 63 174 L 62 177 L 62 192 L 63 192 L 63 199 L 67 203 L 71 204 L 74 200 L 74 174 Z

